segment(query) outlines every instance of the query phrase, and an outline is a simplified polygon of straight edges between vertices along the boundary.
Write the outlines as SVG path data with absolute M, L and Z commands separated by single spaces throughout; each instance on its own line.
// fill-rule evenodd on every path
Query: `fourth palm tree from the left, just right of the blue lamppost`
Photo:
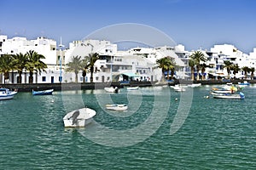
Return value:
M 78 82 L 79 71 L 84 69 L 84 63 L 81 56 L 73 56 L 71 61 L 67 63 L 66 71 L 75 73 L 75 82 Z

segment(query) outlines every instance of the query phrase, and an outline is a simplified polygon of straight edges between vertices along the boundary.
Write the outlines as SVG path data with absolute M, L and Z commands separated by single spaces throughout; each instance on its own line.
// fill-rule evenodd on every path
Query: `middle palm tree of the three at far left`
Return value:
M 15 70 L 18 71 L 19 73 L 19 78 L 17 80 L 18 83 L 21 83 L 22 81 L 22 78 L 21 78 L 21 75 L 22 75 L 22 71 L 23 69 L 26 68 L 26 63 L 28 62 L 28 57 L 27 57 L 27 54 L 15 54 L 13 55 L 14 57 L 14 63 L 15 63 Z

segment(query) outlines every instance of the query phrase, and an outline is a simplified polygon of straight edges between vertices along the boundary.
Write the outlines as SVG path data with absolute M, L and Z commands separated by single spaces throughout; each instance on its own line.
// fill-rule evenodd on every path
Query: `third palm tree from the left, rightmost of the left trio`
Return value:
M 38 73 L 41 73 L 41 71 L 44 71 L 44 69 L 47 68 L 47 65 L 44 64 L 41 59 L 45 59 L 44 55 L 38 54 L 34 50 L 29 50 L 26 52 L 26 55 L 28 57 L 28 61 L 26 62 L 26 70 L 29 71 L 29 83 L 33 82 L 33 72 L 36 71 Z

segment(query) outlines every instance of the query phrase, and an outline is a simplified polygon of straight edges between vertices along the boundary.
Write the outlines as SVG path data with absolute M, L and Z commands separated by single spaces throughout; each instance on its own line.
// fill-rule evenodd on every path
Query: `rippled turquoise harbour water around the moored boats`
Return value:
M 256 87 L 243 89 L 244 100 L 206 99 L 211 88 L 194 88 L 191 106 L 182 101 L 191 91 L 170 88 L 19 93 L 0 101 L 0 169 L 255 169 Z M 109 103 L 130 107 L 106 111 Z M 95 122 L 64 128 L 62 117 L 84 105 L 96 110 Z M 189 114 L 181 110 L 184 122 L 170 134 L 183 107 Z

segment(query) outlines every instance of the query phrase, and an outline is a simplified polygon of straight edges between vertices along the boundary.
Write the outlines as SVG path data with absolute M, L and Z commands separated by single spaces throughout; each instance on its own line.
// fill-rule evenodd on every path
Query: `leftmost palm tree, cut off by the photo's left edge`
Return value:
M 9 71 L 14 69 L 14 59 L 10 54 L 0 56 L 0 72 L 3 73 L 4 83 L 9 80 Z

